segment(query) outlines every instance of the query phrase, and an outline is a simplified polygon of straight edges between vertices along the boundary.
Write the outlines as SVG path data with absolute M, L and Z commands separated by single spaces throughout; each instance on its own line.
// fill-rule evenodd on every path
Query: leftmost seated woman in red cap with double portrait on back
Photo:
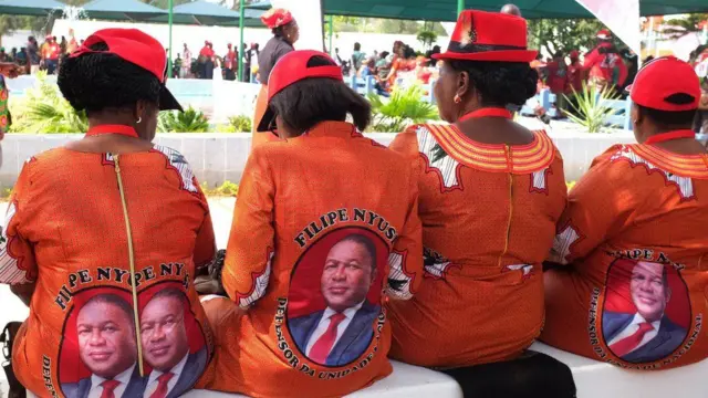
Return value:
M 216 244 L 189 165 L 153 145 L 165 50 L 106 29 L 64 59 L 59 87 L 88 116 L 80 140 L 30 158 L 0 240 L 0 283 L 30 306 L 13 342 L 19 381 L 40 397 L 173 397 L 212 354 L 192 287 Z

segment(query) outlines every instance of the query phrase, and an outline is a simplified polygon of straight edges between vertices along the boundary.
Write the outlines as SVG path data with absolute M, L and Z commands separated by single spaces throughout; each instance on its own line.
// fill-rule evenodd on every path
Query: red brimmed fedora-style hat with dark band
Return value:
M 467 10 L 460 13 L 447 52 L 436 60 L 531 62 L 538 51 L 527 49 L 527 20 L 521 17 Z

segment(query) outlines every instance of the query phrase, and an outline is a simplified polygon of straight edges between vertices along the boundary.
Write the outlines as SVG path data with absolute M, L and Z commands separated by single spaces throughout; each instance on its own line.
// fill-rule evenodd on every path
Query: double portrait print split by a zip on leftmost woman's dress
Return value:
M 127 290 L 87 289 L 73 300 L 60 346 L 59 379 L 66 397 L 177 398 L 204 373 L 207 342 L 181 283 L 142 291 L 137 317 Z

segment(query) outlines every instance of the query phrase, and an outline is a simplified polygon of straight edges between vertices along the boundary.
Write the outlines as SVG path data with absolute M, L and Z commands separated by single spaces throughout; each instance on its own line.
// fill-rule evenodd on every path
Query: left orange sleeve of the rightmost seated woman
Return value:
M 550 261 L 568 264 L 582 259 L 632 222 L 645 198 L 629 188 L 637 182 L 628 164 L 611 160 L 621 148 L 613 146 L 597 157 L 569 193 Z

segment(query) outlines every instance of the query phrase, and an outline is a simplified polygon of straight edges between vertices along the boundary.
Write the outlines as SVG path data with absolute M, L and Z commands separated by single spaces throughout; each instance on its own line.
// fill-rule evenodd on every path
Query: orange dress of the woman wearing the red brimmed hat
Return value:
M 425 282 L 388 305 L 391 356 L 459 367 L 512 358 L 543 323 L 542 262 L 563 211 L 563 161 L 529 145 L 476 143 L 456 126 L 417 125 L 391 148 L 416 161 Z

